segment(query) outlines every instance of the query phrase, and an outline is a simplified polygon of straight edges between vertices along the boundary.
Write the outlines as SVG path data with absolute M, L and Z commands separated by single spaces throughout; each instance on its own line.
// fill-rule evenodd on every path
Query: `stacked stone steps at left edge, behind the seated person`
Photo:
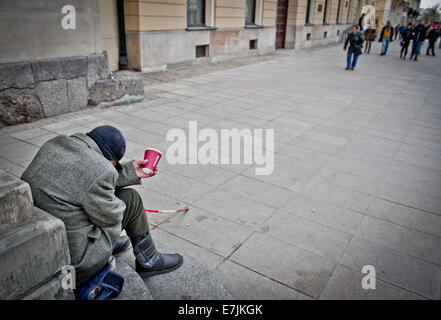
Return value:
M 29 185 L 0 170 L 0 299 L 73 299 L 61 220 L 35 208 Z

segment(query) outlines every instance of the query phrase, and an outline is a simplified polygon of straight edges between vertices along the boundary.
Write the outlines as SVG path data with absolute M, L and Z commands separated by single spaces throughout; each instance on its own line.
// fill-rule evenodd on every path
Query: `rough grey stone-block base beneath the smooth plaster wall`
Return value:
M 85 109 L 88 90 L 108 77 L 104 54 L 0 64 L 0 123 Z

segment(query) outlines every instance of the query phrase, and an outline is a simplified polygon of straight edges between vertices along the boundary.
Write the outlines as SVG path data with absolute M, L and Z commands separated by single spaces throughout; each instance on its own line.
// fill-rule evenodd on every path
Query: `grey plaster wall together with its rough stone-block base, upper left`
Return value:
M 107 79 L 99 0 L 67 3 L 0 1 L 1 124 L 86 109 L 89 89 Z

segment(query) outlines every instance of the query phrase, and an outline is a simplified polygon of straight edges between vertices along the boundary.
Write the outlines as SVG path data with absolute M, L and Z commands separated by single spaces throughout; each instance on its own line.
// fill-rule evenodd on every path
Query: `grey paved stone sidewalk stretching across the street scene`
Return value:
M 422 51 L 424 51 L 423 47 Z M 17 176 L 56 134 L 120 128 L 126 159 L 166 150 L 172 128 L 274 128 L 275 169 L 176 165 L 137 187 L 153 236 L 194 257 L 240 299 L 440 299 L 441 59 L 387 56 L 355 71 L 341 46 L 146 87 L 152 100 L 0 130 Z M 361 286 L 363 266 L 376 289 Z

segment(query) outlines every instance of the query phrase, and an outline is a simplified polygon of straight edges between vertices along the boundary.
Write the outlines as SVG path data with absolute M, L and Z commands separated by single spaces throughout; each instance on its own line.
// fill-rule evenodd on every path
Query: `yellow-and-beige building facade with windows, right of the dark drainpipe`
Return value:
M 129 68 L 164 70 L 333 43 L 358 21 L 362 1 L 124 0 Z

